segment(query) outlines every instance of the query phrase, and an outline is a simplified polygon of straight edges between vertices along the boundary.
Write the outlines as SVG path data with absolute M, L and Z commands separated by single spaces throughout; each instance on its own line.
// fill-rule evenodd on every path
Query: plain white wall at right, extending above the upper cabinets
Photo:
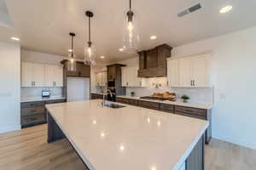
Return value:
M 174 48 L 175 57 L 212 51 L 212 136 L 256 149 L 256 27 Z

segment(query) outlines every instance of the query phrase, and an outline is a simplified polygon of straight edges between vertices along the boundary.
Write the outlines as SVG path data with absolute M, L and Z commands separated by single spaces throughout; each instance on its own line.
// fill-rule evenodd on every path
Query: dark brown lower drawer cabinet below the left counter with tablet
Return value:
M 22 102 L 20 104 L 21 127 L 32 127 L 46 123 L 45 105 L 66 101 L 67 99 L 52 99 L 46 101 Z

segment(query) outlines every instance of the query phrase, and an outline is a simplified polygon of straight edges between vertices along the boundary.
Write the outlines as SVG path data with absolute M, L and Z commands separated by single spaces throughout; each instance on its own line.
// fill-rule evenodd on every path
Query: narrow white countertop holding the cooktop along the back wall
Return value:
M 119 98 L 126 98 L 126 99 L 139 99 L 143 101 L 151 101 L 151 102 L 156 102 L 156 103 L 163 103 L 163 104 L 170 104 L 170 105 L 181 105 L 181 106 L 186 106 L 186 107 L 194 107 L 198 109 L 211 109 L 212 105 L 205 105 L 205 104 L 194 104 L 194 103 L 183 103 L 179 101 L 168 101 L 168 100 L 157 100 L 157 99 L 140 99 L 140 97 L 137 96 L 128 96 L 128 95 L 120 95 L 117 96 Z

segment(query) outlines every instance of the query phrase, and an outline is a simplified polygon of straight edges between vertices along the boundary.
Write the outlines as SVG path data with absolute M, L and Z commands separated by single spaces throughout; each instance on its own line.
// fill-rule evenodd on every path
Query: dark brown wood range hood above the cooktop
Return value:
M 167 77 L 167 58 L 171 57 L 172 47 L 166 43 L 155 48 L 139 51 L 138 77 Z

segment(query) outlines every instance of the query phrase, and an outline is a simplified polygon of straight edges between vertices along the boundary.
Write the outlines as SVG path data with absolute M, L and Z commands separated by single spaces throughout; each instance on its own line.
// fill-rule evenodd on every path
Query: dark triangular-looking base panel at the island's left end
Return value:
M 48 119 L 48 143 L 52 143 L 56 140 L 66 138 L 65 134 L 62 133 L 61 128 L 57 125 L 54 118 L 47 112 Z

